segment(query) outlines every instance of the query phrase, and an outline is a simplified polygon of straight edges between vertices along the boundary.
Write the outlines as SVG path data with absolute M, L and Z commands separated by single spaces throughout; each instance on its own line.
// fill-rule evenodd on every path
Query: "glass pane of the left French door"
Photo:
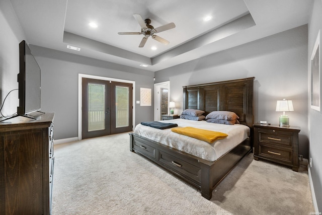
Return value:
M 105 129 L 105 85 L 89 84 L 88 131 Z

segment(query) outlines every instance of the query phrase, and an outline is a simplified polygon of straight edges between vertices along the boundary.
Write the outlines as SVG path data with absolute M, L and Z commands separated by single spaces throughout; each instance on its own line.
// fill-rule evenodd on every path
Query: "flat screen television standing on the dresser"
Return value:
M 19 43 L 18 115 L 40 110 L 40 67 L 25 40 Z

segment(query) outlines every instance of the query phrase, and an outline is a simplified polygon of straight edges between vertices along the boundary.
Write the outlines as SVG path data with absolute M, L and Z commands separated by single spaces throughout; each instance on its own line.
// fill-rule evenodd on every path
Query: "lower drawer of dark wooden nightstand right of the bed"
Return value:
M 283 149 L 277 149 L 265 145 L 259 145 L 259 155 L 263 158 L 274 158 L 283 162 L 293 162 L 293 152 Z

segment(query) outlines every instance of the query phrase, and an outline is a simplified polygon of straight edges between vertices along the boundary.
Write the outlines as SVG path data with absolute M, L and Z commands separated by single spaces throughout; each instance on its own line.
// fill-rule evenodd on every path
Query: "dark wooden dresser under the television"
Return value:
M 54 113 L 29 116 L 0 123 L 0 214 L 51 214 Z

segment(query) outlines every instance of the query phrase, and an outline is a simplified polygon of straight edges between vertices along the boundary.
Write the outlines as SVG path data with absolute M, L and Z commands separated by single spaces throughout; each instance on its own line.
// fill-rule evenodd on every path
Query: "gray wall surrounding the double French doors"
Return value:
M 41 68 L 41 110 L 55 112 L 55 139 L 78 135 L 78 74 L 135 81 L 135 100 L 141 87 L 153 92 L 150 71 L 34 45 L 30 49 Z M 135 125 L 153 119 L 153 106 L 135 105 Z

